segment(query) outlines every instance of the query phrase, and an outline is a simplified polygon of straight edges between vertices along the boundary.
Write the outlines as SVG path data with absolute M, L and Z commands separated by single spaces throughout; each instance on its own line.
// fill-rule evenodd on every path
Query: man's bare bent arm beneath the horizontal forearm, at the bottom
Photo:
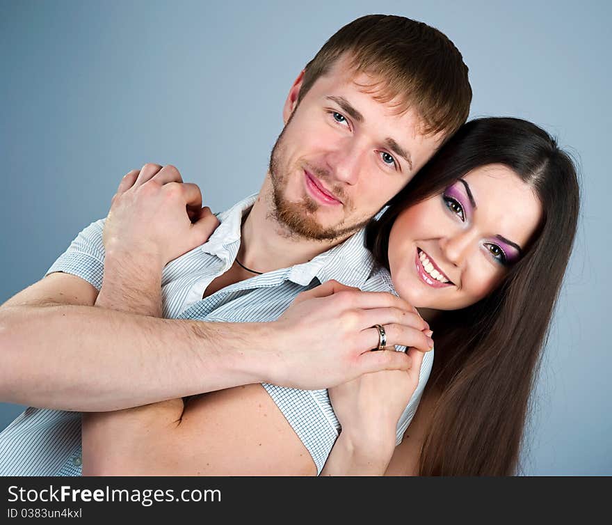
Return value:
M 92 426 L 83 425 L 83 476 L 316 474 L 308 450 L 259 384 L 192 399 L 182 417 L 179 410 L 167 402 L 95 414 Z

